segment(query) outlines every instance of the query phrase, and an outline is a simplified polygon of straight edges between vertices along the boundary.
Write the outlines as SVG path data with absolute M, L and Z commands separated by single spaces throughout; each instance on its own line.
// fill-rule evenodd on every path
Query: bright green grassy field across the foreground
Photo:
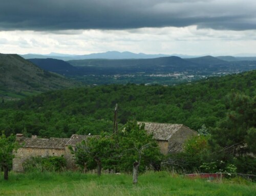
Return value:
M 256 184 L 243 179 L 211 181 L 188 179 L 167 172 L 147 172 L 132 184 L 130 175 L 10 173 L 0 176 L 0 195 L 256 195 Z

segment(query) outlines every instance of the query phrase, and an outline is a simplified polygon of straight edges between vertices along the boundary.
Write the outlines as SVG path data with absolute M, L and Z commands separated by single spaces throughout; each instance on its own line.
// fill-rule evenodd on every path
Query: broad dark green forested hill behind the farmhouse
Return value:
M 112 131 L 114 106 L 118 121 L 182 123 L 195 130 L 215 127 L 227 112 L 232 91 L 256 95 L 256 71 L 214 77 L 177 86 L 102 85 L 47 92 L 0 104 L 0 129 L 41 137 L 69 137 Z

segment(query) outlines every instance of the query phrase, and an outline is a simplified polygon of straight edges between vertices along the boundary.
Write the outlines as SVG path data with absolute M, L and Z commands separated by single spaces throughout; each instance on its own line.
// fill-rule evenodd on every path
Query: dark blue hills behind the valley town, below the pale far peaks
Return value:
M 210 75 L 214 72 L 247 71 L 256 68 L 256 61 L 225 61 L 212 56 L 184 59 L 168 56 L 151 59 L 29 60 L 42 69 L 67 76 L 173 72 Z

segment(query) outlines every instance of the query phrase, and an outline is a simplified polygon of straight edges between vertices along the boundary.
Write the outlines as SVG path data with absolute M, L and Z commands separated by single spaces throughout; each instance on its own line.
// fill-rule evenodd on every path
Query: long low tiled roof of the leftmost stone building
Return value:
M 69 138 L 24 138 L 25 148 L 50 148 L 50 149 L 64 149 Z

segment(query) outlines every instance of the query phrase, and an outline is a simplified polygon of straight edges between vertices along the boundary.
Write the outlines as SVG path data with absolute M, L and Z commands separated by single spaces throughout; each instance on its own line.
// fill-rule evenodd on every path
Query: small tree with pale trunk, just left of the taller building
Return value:
M 144 124 L 138 125 L 136 121 L 126 123 L 116 137 L 120 156 L 119 168 L 133 170 L 133 183 L 137 184 L 139 170 L 143 171 L 147 166 L 159 164 L 161 161 L 162 154 L 157 142 L 153 135 L 146 133 Z

